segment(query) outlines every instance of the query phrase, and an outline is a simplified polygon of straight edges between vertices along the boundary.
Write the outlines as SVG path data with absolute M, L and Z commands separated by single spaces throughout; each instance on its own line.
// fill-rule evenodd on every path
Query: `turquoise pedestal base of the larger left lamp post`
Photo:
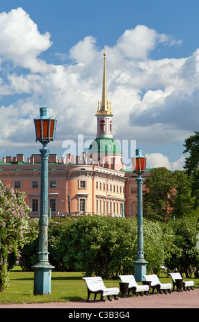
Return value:
M 49 263 L 37 263 L 34 269 L 34 295 L 51 294 L 51 271 L 54 269 Z

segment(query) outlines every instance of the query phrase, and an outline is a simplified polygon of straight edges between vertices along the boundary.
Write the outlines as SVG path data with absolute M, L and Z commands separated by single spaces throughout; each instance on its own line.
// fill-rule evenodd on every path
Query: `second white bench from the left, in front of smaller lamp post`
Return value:
M 145 295 L 149 294 L 150 286 L 138 285 L 133 275 L 119 275 L 119 277 L 122 283 L 129 283 L 128 296 L 131 290 L 133 290 L 133 294 L 135 295 L 137 295 L 137 293 L 142 295 L 142 292 L 144 292 Z

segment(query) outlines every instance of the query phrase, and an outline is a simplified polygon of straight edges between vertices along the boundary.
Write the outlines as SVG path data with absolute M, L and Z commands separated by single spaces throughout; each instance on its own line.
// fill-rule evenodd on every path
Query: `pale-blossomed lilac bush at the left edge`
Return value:
M 8 254 L 20 256 L 19 249 L 29 241 L 29 207 L 25 193 L 0 182 L 0 291 L 8 288 Z

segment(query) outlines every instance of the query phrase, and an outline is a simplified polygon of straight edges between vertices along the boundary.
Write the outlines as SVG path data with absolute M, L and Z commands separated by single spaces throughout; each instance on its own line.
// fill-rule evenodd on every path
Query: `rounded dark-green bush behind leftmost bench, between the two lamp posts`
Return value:
M 82 216 L 61 238 L 64 264 L 107 279 L 128 273 L 133 269 L 136 231 L 131 219 Z

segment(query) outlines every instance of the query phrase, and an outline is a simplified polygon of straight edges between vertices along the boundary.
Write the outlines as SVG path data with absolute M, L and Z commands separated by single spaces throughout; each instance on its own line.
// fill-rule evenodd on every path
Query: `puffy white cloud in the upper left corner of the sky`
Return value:
M 51 47 L 50 34 L 41 35 L 38 27 L 22 9 L 0 14 L 0 55 L 32 72 L 47 72 L 50 66 L 38 55 Z

